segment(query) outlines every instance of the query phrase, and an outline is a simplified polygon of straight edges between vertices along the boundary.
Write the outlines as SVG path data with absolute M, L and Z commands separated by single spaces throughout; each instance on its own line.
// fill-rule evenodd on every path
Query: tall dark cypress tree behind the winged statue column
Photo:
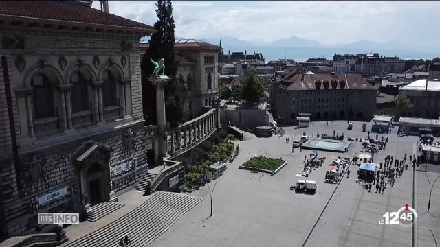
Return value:
M 142 57 L 142 102 L 146 124 L 156 124 L 156 89 L 148 80 L 153 73 L 154 65 L 150 58 L 157 61 L 165 59 L 165 75 L 172 80 L 165 86 L 166 121 L 171 126 L 179 124 L 183 117 L 184 102 L 186 99 L 186 87 L 179 84 L 175 78 L 177 63 L 175 62 L 174 50 L 174 19 L 173 6 L 170 0 L 159 0 L 156 3 L 157 21 L 154 24 L 155 32 L 151 35 L 148 50 Z

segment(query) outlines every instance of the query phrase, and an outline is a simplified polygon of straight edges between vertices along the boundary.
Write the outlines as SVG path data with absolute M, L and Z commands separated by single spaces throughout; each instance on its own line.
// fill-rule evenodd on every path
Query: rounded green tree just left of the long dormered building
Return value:
M 264 86 L 259 74 L 254 69 L 251 69 L 243 75 L 242 80 L 241 99 L 252 104 L 261 102 L 261 98 L 264 97 Z

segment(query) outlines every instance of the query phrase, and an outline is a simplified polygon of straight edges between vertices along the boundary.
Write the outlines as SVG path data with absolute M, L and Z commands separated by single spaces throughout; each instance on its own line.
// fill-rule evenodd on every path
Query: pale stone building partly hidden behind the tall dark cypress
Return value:
M 143 56 L 148 43 L 140 43 Z M 186 85 L 184 121 L 212 107 L 212 100 L 219 99 L 219 51 L 221 47 L 201 40 L 185 39 L 175 42 L 177 80 Z

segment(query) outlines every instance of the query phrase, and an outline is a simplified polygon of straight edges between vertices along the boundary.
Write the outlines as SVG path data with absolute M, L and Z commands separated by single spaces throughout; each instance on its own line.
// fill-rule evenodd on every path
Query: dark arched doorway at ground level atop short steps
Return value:
M 91 206 L 103 201 L 104 192 L 102 183 L 104 177 L 104 171 L 101 169 L 98 163 L 93 163 L 87 170 L 87 182 L 89 183 L 89 202 Z

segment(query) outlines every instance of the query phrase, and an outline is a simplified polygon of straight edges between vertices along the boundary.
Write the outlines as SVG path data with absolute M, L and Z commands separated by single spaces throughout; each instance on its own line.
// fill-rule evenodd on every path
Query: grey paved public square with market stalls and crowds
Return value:
M 354 122 L 353 130 L 347 130 L 347 121 L 329 122 L 328 126 L 327 121 L 322 121 L 309 128 L 284 129 L 284 136 L 270 138 L 258 138 L 246 132 L 244 141 L 236 141 L 240 145 L 239 156 L 228 163 L 228 169 L 222 176 L 209 183 L 211 189 L 215 185 L 213 216 L 208 217 L 210 195 L 207 185 L 186 193 L 203 200 L 148 246 L 412 246 L 411 227 L 379 223 L 384 220 L 382 215 L 387 211 L 397 211 L 405 204 L 412 205 L 411 165 L 401 178 L 396 178 L 393 187 L 386 187 L 384 194 L 374 193 L 374 187 L 368 192 L 356 183 L 357 165 L 349 167 L 350 178 L 344 177 L 339 186 L 324 183 L 325 172 L 333 158 L 353 158 L 360 154 L 362 144 L 353 141 L 345 153 L 319 151 L 318 156 L 325 156 L 327 160 L 307 178 L 316 180 L 316 194 L 297 194 L 289 187 L 300 178 L 296 174 L 304 167 L 304 156 L 313 151 L 300 152 L 296 148 L 292 153 L 293 139 L 299 139 L 303 132 L 311 137 L 312 132 L 316 136 L 317 133 L 331 134 L 336 130 L 344 133 L 345 140 L 348 137 L 366 138 L 367 134 L 362 132 L 362 122 Z M 371 123 L 367 127 L 367 130 L 370 129 Z M 394 128 L 391 134 L 383 135 L 388 137 L 388 144 L 385 150 L 375 154 L 374 163 L 383 162 L 388 154 L 398 159 L 403 158 L 405 153 L 417 154 L 418 137 L 397 137 L 396 132 L 397 128 Z M 290 138 L 290 143 L 285 142 L 286 137 Z M 375 133 L 371 137 L 375 138 Z M 283 158 L 288 164 L 274 176 L 238 169 L 255 154 Z M 432 183 L 437 173 L 429 176 Z M 429 189 L 424 172 L 417 172 L 415 178 L 416 210 L 423 213 Z M 440 185 L 435 186 L 438 188 Z M 335 193 L 331 198 L 333 191 Z M 437 191 L 432 193 L 430 212 L 434 215 L 440 215 L 437 206 L 440 195 Z M 440 222 L 430 214 L 421 213 L 415 242 L 419 246 L 435 246 L 430 229 L 440 239 L 439 231 L 435 230 L 440 228 Z

